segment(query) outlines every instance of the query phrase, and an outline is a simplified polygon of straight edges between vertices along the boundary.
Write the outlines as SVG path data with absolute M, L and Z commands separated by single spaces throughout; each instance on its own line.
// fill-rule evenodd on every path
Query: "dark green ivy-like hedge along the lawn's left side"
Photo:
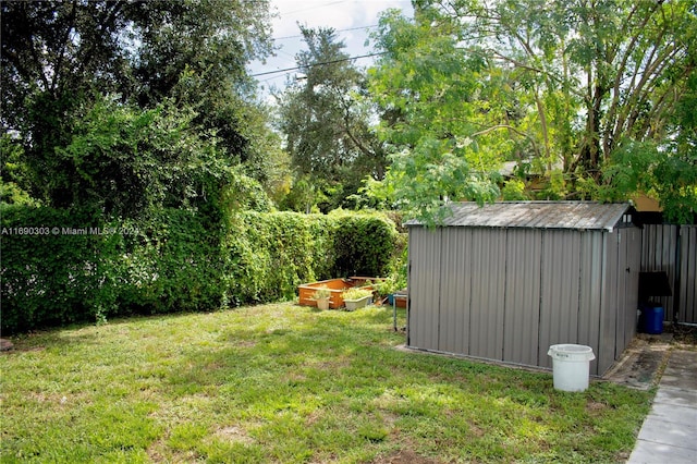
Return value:
M 80 210 L 2 206 L 2 330 L 220 306 L 220 236 L 162 210 L 108 222 Z

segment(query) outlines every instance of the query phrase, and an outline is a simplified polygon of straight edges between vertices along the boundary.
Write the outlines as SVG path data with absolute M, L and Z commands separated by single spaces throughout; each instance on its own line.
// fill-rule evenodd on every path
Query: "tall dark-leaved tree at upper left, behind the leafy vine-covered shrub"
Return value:
M 71 185 L 47 181 L 78 175 L 75 159 L 57 152 L 84 136 L 80 120 L 103 96 L 136 113 L 185 109 L 197 136 L 216 137 L 218 156 L 244 160 L 245 63 L 270 51 L 268 20 L 266 1 L 3 1 L 1 122 L 23 145 L 30 193 L 74 203 Z

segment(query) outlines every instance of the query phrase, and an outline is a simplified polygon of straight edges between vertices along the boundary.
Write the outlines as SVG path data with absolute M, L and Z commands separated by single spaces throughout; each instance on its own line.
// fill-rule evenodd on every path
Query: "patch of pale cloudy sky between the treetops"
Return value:
M 333 27 L 345 41 L 348 54 L 368 54 L 372 46 L 366 46 L 365 41 L 369 33 L 375 30 L 380 13 L 388 9 L 400 9 L 404 14 L 413 15 L 409 0 L 271 0 L 271 11 L 278 13 L 273 20 L 273 37 L 281 48 L 265 64 L 253 62 L 249 65 L 250 73 L 268 73 L 296 65 L 295 53 L 304 48 L 298 22 L 309 27 Z M 359 66 L 370 63 L 370 59 L 356 60 Z M 286 78 L 294 75 L 294 71 L 289 71 L 261 75 L 257 80 L 266 93 L 271 86 L 282 89 Z

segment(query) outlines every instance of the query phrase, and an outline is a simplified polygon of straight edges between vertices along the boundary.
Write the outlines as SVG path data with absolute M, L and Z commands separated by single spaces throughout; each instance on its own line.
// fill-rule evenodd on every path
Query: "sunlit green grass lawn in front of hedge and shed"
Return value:
M 278 304 L 15 339 L 2 462 L 616 462 L 649 408 L 399 351 L 391 327 L 391 309 Z

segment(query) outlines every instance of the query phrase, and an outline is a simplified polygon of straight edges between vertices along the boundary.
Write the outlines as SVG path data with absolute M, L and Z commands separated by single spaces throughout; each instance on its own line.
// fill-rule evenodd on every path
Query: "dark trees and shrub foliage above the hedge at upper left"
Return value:
M 135 202 L 136 185 L 154 193 L 176 184 L 185 193 L 168 195 L 186 198 L 195 188 L 179 181 L 196 176 L 205 157 L 230 167 L 254 154 L 243 122 L 254 108 L 245 65 L 271 51 L 267 1 L 1 9 L 3 144 L 20 147 L 23 166 L 3 182 L 57 207 L 125 187 Z

